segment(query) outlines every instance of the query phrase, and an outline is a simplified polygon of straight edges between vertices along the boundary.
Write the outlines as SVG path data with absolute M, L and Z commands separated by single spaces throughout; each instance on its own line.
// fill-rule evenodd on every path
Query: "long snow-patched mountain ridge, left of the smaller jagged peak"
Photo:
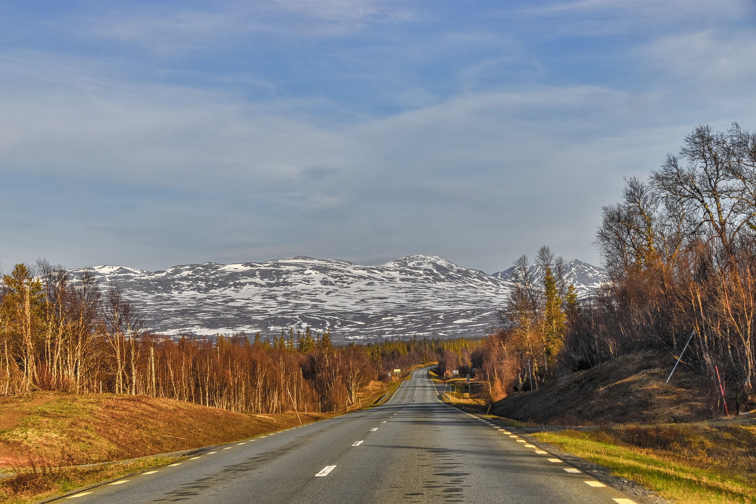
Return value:
M 483 335 L 512 286 L 507 278 L 429 255 L 380 266 L 294 257 L 186 264 L 166 271 L 92 269 L 101 283 L 119 283 L 157 332 L 270 335 L 281 327 L 330 327 L 342 342 Z

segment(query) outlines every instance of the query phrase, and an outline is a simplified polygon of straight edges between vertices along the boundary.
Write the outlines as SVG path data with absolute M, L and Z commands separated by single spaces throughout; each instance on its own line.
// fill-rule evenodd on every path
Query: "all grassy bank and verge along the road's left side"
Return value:
M 377 405 L 400 384 L 370 382 L 349 410 Z M 0 476 L 6 476 L 0 478 L 0 501 L 36 502 L 189 456 L 162 454 L 240 441 L 339 414 L 249 415 L 116 394 L 36 392 L 5 398 L 0 400 Z

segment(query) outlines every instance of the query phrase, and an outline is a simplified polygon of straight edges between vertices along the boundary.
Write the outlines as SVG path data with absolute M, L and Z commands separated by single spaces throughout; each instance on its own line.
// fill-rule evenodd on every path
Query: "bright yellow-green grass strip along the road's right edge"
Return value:
M 666 450 L 635 447 L 608 431 L 538 432 L 539 441 L 603 465 L 612 475 L 637 481 L 661 496 L 682 503 L 756 502 L 756 486 L 746 475 L 728 474 L 686 463 Z M 701 464 L 698 464 L 701 465 Z

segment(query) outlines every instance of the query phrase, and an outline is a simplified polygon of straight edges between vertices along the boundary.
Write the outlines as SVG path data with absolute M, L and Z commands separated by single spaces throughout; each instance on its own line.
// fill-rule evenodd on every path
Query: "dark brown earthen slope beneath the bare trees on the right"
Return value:
M 711 418 L 708 389 L 681 364 L 669 384 L 668 355 L 643 351 L 571 373 L 537 391 L 494 403 L 491 413 L 547 425 L 693 422 Z

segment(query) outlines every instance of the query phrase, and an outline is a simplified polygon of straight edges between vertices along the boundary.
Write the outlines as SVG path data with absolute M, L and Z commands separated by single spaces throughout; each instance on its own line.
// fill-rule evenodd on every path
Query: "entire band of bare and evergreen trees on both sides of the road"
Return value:
M 608 280 L 579 298 L 542 247 L 514 264 L 513 291 L 485 339 L 334 346 L 328 332 L 261 338 L 153 335 L 117 285 L 91 272 L 17 264 L 0 285 L 0 394 L 35 389 L 172 397 L 227 410 L 345 410 L 370 380 L 438 360 L 476 369 L 491 399 L 655 349 L 711 380 L 756 380 L 756 134 L 702 125 L 646 180 L 602 209 L 595 245 Z M 686 347 L 687 345 L 687 347 Z M 721 385 L 721 387 L 720 387 Z M 715 388 L 716 387 L 716 388 Z

